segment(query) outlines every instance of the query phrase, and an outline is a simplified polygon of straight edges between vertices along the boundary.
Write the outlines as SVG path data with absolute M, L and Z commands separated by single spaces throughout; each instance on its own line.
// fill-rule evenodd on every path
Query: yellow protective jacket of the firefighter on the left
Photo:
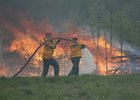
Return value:
M 47 40 L 46 38 L 44 39 L 45 41 Z M 43 48 L 43 52 L 42 52 L 42 58 L 43 59 L 50 59 L 53 58 L 53 52 L 54 49 L 56 48 L 56 44 L 54 43 L 53 40 L 49 40 Z

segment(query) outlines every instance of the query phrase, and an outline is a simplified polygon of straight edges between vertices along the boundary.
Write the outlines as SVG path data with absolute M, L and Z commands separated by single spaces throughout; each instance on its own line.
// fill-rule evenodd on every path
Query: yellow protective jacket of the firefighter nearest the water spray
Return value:
M 70 58 L 81 57 L 82 56 L 82 44 L 76 44 L 70 46 Z

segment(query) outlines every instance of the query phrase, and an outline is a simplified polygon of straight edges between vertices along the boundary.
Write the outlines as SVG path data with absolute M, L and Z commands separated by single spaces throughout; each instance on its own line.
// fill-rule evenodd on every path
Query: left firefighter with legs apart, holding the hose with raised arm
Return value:
M 46 42 L 46 44 L 44 45 L 43 53 L 42 53 L 42 59 L 43 59 L 42 76 L 47 76 L 49 66 L 52 65 L 54 68 L 54 76 L 57 77 L 59 75 L 59 64 L 57 63 L 55 58 L 53 58 L 53 52 L 54 49 L 56 48 L 56 45 L 60 42 L 60 39 L 58 39 L 57 41 L 52 40 L 52 33 L 48 31 L 46 33 L 46 37 L 44 38 L 44 41 L 46 40 L 48 40 L 48 42 Z

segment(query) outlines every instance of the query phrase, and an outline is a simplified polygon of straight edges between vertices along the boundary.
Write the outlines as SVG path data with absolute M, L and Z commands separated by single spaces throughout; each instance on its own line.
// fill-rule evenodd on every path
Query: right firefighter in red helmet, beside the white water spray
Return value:
M 86 46 L 84 44 L 78 43 L 78 36 L 74 34 L 72 36 L 72 44 L 70 45 L 70 59 L 73 64 L 73 67 L 69 73 L 69 75 L 79 75 L 79 63 L 80 58 L 82 57 L 82 49 Z

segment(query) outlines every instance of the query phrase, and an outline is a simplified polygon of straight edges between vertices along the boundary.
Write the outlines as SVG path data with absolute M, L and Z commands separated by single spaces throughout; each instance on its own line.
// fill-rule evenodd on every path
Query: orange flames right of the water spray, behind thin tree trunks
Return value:
M 112 63 L 112 60 L 113 60 L 112 57 L 121 56 L 121 55 L 125 56 L 125 53 L 121 53 L 121 51 L 119 51 L 117 48 L 112 47 L 112 54 L 110 54 L 111 45 L 107 43 L 107 41 L 104 39 L 103 36 L 99 37 L 98 44 L 96 41 L 97 41 L 97 38 L 93 40 L 91 37 L 84 37 L 84 38 L 81 38 L 80 40 L 80 42 L 86 44 L 87 47 L 92 52 L 93 57 L 94 57 L 94 62 L 97 64 L 96 66 L 97 66 L 98 74 L 106 75 L 107 71 L 113 69 L 116 66 L 119 66 L 116 63 L 120 61 L 120 59 L 118 60 L 116 59 L 114 61 L 116 63 Z M 97 52 L 97 45 L 98 45 L 98 52 Z M 128 60 L 128 58 L 122 58 L 122 60 Z M 107 63 L 107 66 L 106 66 L 106 63 Z

